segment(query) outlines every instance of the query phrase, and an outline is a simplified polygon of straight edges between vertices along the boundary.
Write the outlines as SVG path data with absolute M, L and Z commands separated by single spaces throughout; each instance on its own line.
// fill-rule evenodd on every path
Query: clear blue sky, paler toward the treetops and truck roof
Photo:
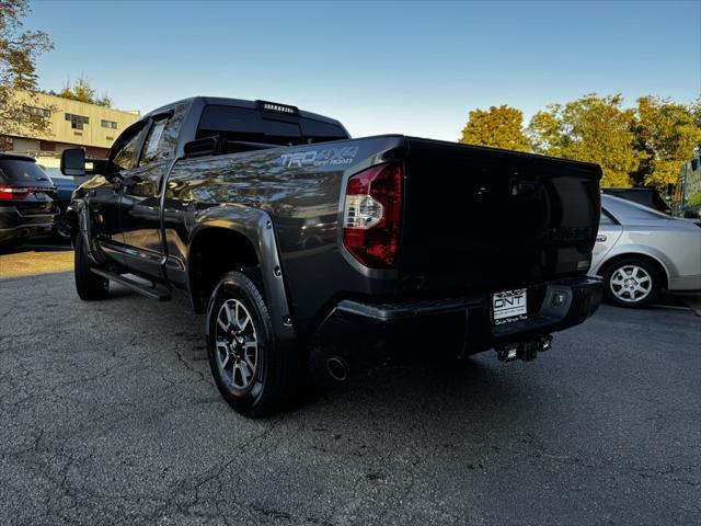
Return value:
M 585 93 L 701 92 L 701 1 L 34 1 L 56 49 L 41 85 L 85 76 L 142 112 L 203 94 L 341 119 L 353 136 L 456 140 L 475 107 L 526 116 Z

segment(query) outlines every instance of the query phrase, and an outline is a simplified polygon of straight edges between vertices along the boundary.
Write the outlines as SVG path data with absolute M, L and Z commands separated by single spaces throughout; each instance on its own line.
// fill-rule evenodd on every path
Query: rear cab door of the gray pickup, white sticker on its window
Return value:
M 119 228 L 127 266 L 163 282 L 165 252 L 161 230 L 163 178 L 175 157 L 186 104 L 166 107 L 149 119 L 147 135 L 134 169 L 122 186 Z

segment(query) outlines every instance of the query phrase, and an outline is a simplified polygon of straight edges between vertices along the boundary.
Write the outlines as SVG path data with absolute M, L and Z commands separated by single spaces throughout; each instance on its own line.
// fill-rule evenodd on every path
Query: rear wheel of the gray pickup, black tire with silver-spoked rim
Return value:
M 257 270 L 226 274 L 207 309 L 207 354 L 223 399 L 246 416 L 290 405 L 306 374 L 300 348 L 275 339 Z

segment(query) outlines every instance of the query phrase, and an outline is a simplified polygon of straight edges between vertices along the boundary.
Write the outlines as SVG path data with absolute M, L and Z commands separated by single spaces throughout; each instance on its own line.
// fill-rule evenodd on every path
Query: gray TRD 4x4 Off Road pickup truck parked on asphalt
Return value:
M 311 357 L 357 366 L 536 357 L 598 307 L 599 167 L 401 135 L 264 101 L 194 98 L 125 129 L 68 210 L 76 286 L 207 315 L 237 411 L 287 407 Z

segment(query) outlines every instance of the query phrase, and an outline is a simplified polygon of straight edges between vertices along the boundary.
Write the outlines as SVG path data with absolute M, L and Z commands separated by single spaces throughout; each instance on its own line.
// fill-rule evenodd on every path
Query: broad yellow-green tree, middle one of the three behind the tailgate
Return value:
M 641 152 L 631 132 L 635 111 L 623 98 L 587 94 L 565 105 L 553 104 L 531 118 L 527 134 L 538 153 L 601 165 L 601 186 L 630 186 Z

